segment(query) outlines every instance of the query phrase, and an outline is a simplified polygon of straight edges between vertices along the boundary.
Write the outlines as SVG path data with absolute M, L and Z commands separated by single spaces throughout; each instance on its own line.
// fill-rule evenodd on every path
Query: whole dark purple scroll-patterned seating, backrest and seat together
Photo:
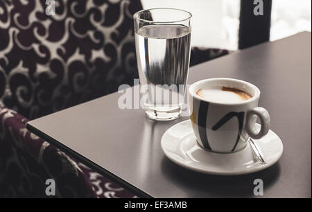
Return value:
M 44 197 L 44 181 L 53 178 L 58 197 L 135 197 L 25 123 L 132 85 L 132 15 L 141 3 L 55 0 L 55 15 L 46 15 L 45 3 L 0 1 L 0 196 Z M 193 48 L 191 64 L 224 54 Z

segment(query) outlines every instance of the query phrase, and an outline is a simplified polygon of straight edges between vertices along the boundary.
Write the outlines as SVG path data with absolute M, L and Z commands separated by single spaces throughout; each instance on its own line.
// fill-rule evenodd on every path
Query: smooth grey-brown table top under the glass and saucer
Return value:
M 205 78 L 238 78 L 257 85 L 271 129 L 284 143 L 274 166 L 259 173 L 214 176 L 195 173 L 168 160 L 162 134 L 175 123 L 145 118 L 141 109 L 117 106 L 114 93 L 28 122 L 28 130 L 100 173 L 152 197 L 311 197 L 311 33 L 254 46 L 192 67 L 189 84 Z

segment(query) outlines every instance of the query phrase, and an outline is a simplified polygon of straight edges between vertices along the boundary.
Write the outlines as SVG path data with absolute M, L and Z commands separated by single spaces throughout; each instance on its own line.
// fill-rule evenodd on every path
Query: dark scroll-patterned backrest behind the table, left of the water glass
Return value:
M 0 99 L 36 118 L 133 83 L 139 0 L 0 1 Z M 2 11 L 2 12 L 1 12 Z

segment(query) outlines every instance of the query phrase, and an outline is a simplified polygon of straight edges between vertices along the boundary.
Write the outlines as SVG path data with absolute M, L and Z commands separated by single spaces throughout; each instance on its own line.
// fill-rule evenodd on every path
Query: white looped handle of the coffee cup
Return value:
M 260 119 L 261 129 L 256 129 L 257 116 Z M 268 111 L 263 107 L 254 107 L 247 113 L 246 132 L 252 139 L 261 139 L 268 133 L 270 129 L 270 115 Z

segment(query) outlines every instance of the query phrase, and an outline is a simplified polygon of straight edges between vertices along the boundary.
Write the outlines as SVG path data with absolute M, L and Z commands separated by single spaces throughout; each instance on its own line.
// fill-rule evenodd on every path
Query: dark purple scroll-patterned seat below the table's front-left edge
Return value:
M 135 197 L 26 130 L 28 120 L 0 106 L 0 197 Z

